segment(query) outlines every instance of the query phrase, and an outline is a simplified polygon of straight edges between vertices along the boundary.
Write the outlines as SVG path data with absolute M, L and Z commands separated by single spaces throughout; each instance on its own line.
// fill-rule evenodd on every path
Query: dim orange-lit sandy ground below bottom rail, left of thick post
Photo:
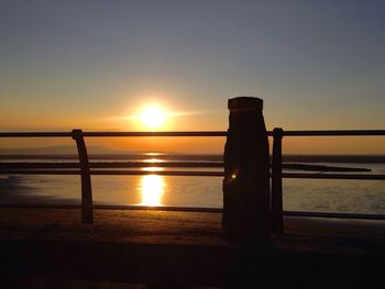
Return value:
M 226 245 L 220 220 L 212 213 L 96 210 L 94 224 L 81 224 L 79 210 L 2 209 L 0 237 Z

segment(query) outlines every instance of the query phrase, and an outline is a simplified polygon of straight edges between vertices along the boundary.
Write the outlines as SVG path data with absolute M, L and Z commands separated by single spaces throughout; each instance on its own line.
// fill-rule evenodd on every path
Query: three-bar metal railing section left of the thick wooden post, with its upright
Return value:
M 81 209 L 81 222 L 94 222 L 94 209 L 119 209 L 119 210 L 162 210 L 162 211 L 195 211 L 195 212 L 221 212 L 219 208 L 190 208 L 190 207 L 144 207 L 144 205 L 102 205 L 92 203 L 91 175 L 150 175 L 153 171 L 145 170 L 92 170 L 87 154 L 85 137 L 212 137 L 227 136 L 227 132 L 82 132 L 81 130 L 73 130 L 72 132 L 3 132 L 0 137 L 72 137 L 76 142 L 79 169 L 1 169 L 0 174 L 28 174 L 28 175 L 80 175 L 81 177 L 81 205 L 65 204 L 0 204 L 4 208 L 45 208 L 45 209 Z M 221 171 L 180 171 L 166 170 L 156 171 L 156 175 L 162 176 L 206 176 L 206 177 L 222 177 Z

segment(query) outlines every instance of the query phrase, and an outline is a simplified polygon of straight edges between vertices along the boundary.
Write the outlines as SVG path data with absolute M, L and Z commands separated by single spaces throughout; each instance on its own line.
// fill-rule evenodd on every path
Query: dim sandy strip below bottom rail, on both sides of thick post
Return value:
M 81 224 L 79 210 L 1 209 L 0 238 L 228 245 L 220 213 L 123 210 L 95 210 L 94 224 Z M 272 242 L 296 249 L 376 248 L 385 242 L 385 222 L 287 216 L 285 234 Z

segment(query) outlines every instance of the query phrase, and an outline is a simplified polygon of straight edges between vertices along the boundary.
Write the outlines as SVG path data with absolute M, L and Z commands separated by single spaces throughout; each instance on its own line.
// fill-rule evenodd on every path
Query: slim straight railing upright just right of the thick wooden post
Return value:
M 282 197 L 282 129 L 273 130 L 273 164 L 272 164 L 272 211 L 273 232 L 284 232 L 283 197 Z

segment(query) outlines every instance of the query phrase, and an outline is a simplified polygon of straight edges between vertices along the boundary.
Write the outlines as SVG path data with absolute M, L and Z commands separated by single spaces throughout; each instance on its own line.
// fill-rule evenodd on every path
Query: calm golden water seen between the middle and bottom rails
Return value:
M 372 169 L 367 174 L 385 174 L 385 164 L 318 165 L 364 167 Z M 91 179 L 95 203 L 222 207 L 221 177 L 170 177 L 153 171 Z M 0 175 L 1 202 L 78 203 L 79 196 L 79 176 Z M 284 209 L 385 213 L 385 181 L 284 179 Z

